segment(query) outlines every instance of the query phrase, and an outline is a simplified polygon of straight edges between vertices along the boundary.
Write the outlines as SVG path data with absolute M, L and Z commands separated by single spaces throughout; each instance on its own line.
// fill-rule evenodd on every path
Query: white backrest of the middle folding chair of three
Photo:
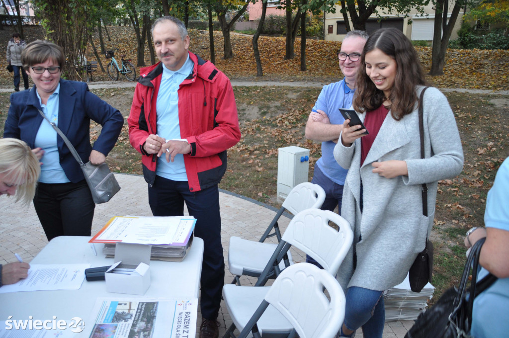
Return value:
M 339 230 L 330 227 L 329 221 Z M 282 239 L 313 257 L 335 276 L 352 245 L 353 231 L 345 218 L 332 211 L 306 209 L 292 218 Z

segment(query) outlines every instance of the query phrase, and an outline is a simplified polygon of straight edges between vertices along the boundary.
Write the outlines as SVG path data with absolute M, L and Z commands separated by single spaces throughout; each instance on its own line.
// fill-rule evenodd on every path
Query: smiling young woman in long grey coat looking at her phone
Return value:
M 362 327 L 364 337 L 382 337 L 383 291 L 403 281 L 425 247 L 435 214 L 438 181 L 463 168 L 463 150 L 453 111 L 435 88 L 423 98 L 425 159 L 420 158 L 418 97 L 426 80 L 409 39 L 381 29 L 367 40 L 357 75 L 354 109 L 360 126 L 343 125 L 334 157 L 348 175 L 341 215 L 354 228 L 354 244 L 338 280 L 346 291 L 341 336 Z M 428 184 L 428 217 L 421 184 Z

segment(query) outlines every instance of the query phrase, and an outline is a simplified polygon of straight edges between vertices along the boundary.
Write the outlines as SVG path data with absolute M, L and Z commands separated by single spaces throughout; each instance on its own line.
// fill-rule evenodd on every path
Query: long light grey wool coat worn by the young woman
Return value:
M 422 88 L 416 88 L 417 97 Z M 446 97 L 429 88 L 423 104 L 425 159 L 420 158 L 417 104 L 400 121 L 387 114 L 362 166 L 360 138 L 350 147 L 338 142 L 334 148 L 334 158 L 348 169 L 341 215 L 354 231 L 354 243 L 337 274 L 344 290 L 356 286 L 382 291 L 405 279 L 431 232 L 438 181 L 462 171 L 460 135 Z M 365 114 L 358 115 L 364 121 Z M 372 172 L 373 162 L 387 160 L 405 160 L 408 176 L 387 179 Z M 422 215 L 422 183 L 428 184 L 428 217 Z

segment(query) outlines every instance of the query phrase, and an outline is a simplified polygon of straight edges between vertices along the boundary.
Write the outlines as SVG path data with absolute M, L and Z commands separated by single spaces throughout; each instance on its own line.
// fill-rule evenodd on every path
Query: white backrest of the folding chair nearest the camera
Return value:
M 332 338 L 345 318 L 345 294 L 337 280 L 309 263 L 283 270 L 265 300 L 288 319 L 300 338 Z

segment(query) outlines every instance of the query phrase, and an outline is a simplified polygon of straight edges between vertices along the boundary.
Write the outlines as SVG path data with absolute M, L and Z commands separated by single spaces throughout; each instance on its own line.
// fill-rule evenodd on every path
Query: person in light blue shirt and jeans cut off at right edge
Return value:
M 480 238 L 486 242 L 480 250 L 479 263 L 483 267 L 480 280 L 491 272 L 497 281 L 474 300 L 472 328 L 475 338 L 505 337 L 509 332 L 509 157 L 498 168 L 493 187 L 488 192 L 484 223 L 486 228 L 472 228 L 467 232 L 465 245 L 471 247 Z

